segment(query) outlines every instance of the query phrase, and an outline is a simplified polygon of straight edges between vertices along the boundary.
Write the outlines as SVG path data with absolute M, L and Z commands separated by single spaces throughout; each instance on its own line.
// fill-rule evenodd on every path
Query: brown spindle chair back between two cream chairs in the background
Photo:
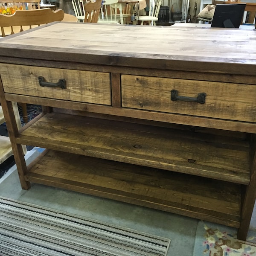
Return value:
M 99 12 L 102 7 L 102 0 L 93 2 L 86 2 L 84 4 L 84 22 L 97 23 L 99 19 Z

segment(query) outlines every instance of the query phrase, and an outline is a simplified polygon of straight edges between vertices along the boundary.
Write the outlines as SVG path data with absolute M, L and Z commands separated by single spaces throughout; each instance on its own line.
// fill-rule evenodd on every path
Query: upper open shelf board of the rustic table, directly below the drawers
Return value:
M 249 184 L 249 143 L 243 138 L 49 113 L 16 143 Z

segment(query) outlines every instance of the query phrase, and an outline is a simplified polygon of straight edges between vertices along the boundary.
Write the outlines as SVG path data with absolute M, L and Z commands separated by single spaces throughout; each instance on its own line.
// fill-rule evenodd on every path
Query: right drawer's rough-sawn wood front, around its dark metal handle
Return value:
M 255 85 L 122 75 L 121 87 L 124 108 L 256 122 Z M 173 101 L 172 90 L 182 100 Z M 183 101 L 198 93 L 204 104 Z

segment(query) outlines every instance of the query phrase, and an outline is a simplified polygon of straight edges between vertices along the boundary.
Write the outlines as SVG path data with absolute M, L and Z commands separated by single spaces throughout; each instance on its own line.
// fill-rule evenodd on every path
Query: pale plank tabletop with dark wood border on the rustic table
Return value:
M 256 30 L 57 22 L 2 38 L 0 55 L 10 50 L 12 57 L 86 64 L 256 70 Z

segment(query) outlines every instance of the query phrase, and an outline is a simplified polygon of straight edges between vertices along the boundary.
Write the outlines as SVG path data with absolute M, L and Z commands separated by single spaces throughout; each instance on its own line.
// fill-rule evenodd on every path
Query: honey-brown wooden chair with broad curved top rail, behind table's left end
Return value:
M 31 29 L 53 21 L 61 21 L 64 11 L 58 9 L 52 12 L 50 8 L 36 10 L 17 10 L 13 15 L 0 14 L 0 27 L 2 36 L 12 35 L 17 32 Z M 7 32 L 8 31 L 8 32 Z M 20 103 L 23 113 L 23 121 L 28 122 L 26 103 Z

